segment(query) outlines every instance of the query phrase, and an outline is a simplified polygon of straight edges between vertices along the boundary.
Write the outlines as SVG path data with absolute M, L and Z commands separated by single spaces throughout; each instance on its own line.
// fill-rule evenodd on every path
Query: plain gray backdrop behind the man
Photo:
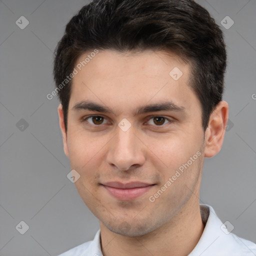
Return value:
M 1 256 L 56 255 L 91 240 L 99 228 L 66 177 L 70 166 L 58 101 L 46 98 L 54 89 L 52 51 L 86 2 L 0 0 Z M 233 233 L 256 242 L 256 0 L 197 2 L 224 31 L 223 99 L 230 107 L 222 149 L 205 158 L 200 202 L 213 206 L 222 222 L 231 222 Z M 29 21 L 24 29 L 15 24 L 22 15 Z M 234 21 L 229 29 L 221 25 L 227 15 Z M 23 130 L 16 126 L 21 118 L 28 123 Z M 21 220 L 29 226 L 24 234 L 15 228 Z

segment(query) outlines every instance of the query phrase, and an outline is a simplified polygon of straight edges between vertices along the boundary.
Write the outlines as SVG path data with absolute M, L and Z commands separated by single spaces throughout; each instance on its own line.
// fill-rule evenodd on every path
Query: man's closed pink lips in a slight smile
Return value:
M 129 201 L 147 192 L 154 184 L 143 182 L 107 182 L 102 184 L 106 190 L 115 198 L 119 200 Z

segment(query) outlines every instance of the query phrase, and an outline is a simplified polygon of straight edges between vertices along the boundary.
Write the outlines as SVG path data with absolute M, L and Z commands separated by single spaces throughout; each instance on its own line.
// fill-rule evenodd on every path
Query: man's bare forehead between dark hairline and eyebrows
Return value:
M 79 56 L 75 68 L 70 107 L 85 98 L 127 107 L 149 100 L 158 103 L 171 99 L 177 105 L 197 100 L 188 86 L 189 63 L 172 52 L 86 52 Z

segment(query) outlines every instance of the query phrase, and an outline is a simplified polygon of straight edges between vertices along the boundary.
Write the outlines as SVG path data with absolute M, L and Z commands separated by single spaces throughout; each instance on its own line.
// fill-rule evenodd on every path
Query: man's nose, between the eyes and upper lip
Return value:
M 116 135 L 109 141 L 106 161 L 117 170 L 139 167 L 145 161 L 146 146 L 135 133 L 133 126 L 126 131 L 117 126 Z

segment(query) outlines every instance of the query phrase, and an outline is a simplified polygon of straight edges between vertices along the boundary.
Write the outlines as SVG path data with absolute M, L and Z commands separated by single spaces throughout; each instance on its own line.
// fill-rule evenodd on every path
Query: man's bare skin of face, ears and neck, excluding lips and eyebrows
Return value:
M 169 75 L 174 67 L 183 73 L 178 80 Z M 174 53 L 102 50 L 73 78 L 67 131 L 58 106 L 64 152 L 71 169 L 80 174 L 75 182 L 78 193 L 99 219 L 104 256 L 187 255 L 203 232 L 199 210 L 203 160 L 221 148 L 228 104 L 219 102 L 204 133 L 200 103 L 187 85 L 189 74 L 189 63 Z M 81 100 L 108 106 L 113 113 L 72 109 Z M 170 100 L 184 110 L 133 115 L 138 106 Z M 104 118 L 81 121 L 91 114 Z M 167 119 L 159 121 L 159 116 Z M 126 131 L 118 126 L 123 118 L 131 124 Z M 197 151 L 201 155 L 155 201 L 149 201 Z M 100 185 L 107 181 L 154 185 L 124 201 Z

